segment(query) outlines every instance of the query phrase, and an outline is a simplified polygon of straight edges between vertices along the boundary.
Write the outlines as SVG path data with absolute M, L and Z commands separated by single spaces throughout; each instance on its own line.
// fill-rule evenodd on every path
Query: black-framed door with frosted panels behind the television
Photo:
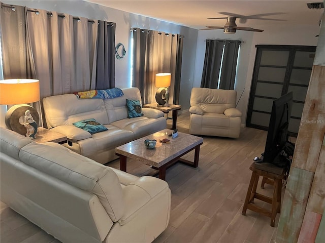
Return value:
M 273 100 L 293 91 L 289 132 L 297 136 L 316 47 L 258 45 L 256 48 L 246 126 L 268 130 Z

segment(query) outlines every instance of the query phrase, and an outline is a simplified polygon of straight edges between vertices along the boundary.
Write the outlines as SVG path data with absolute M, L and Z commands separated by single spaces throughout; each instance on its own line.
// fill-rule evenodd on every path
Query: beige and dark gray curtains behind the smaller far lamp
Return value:
M 155 102 L 155 74 L 170 72 L 169 103 L 179 100 L 183 38 L 179 34 L 132 28 L 132 86 L 138 87 L 143 104 Z M 176 89 L 175 89 L 176 88 Z M 177 100 L 176 100 L 176 99 Z

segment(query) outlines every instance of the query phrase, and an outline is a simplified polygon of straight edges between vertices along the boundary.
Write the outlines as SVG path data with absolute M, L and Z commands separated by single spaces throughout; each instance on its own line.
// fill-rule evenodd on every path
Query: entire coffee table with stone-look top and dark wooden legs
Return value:
M 115 148 L 115 154 L 120 156 L 120 170 L 126 172 L 127 158 L 139 160 L 158 170 L 159 178 L 162 180 L 166 178 L 166 169 L 178 161 L 194 168 L 198 167 L 203 138 L 178 132 L 178 137 L 173 139 L 168 136 L 172 132 L 169 129 L 161 130 Z M 168 138 L 170 142 L 160 143 L 159 140 L 164 138 Z M 153 149 L 147 149 L 144 145 L 145 139 L 156 139 L 156 146 Z M 195 149 L 194 161 L 181 158 L 193 149 Z

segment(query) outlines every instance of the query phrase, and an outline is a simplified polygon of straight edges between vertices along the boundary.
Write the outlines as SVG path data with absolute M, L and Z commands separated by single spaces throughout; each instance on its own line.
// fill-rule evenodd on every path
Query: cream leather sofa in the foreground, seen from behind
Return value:
M 66 243 L 151 242 L 169 223 L 171 191 L 56 143 L 0 128 L 1 200 Z

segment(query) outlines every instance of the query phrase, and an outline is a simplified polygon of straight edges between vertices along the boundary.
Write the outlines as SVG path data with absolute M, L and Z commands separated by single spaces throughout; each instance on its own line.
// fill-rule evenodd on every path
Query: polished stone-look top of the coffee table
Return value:
M 173 139 L 168 136 L 172 132 L 173 130 L 170 129 L 161 130 L 118 146 L 115 152 L 158 168 L 203 143 L 203 138 L 181 132 L 178 132 L 178 136 Z M 160 143 L 159 140 L 164 138 L 168 138 L 170 142 Z M 147 149 L 144 145 L 146 139 L 157 140 L 156 146 L 153 149 Z

